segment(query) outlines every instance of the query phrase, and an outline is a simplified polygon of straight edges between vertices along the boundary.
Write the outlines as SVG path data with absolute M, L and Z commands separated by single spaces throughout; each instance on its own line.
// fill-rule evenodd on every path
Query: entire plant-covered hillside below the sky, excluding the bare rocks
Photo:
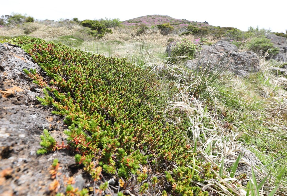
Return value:
M 108 28 L 112 20 L 105 20 Z M 160 15 L 101 36 L 90 24 L 7 24 L 0 36 L 29 36 L 4 41 L 46 72 L 49 81 L 25 70 L 46 89 L 42 104 L 66 117 L 69 148 L 99 194 L 286 195 L 287 79 L 273 69 L 286 63 L 269 59 L 267 52 L 277 51 L 264 37 L 270 32 Z M 257 52 L 260 71 L 238 78 L 185 67 L 201 45 L 219 38 Z M 169 43 L 177 50 L 168 58 Z M 39 153 L 57 149 L 47 131 L 42 140 Z

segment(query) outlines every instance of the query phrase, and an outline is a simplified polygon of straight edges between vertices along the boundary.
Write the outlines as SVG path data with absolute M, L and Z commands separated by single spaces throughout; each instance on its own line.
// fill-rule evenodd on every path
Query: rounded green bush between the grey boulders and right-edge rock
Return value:
M 279 49 L 274 47 L 274 44 L 270 39 L 264 36 L 251 38 L 251 40 L 246 44 L 246 47 L 257 54 L 260 50 L 262 50 L 263 54 L 268 51 L 271 55 L 279 52 Z

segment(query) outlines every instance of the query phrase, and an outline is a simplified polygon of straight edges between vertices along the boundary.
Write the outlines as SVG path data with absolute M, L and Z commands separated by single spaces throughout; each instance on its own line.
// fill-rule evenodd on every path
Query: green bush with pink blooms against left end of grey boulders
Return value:
M 178 42 L 171 43 L 171 56 L 179 59 L 194 58 L 197 46 L 192 41 L 184 38 Z

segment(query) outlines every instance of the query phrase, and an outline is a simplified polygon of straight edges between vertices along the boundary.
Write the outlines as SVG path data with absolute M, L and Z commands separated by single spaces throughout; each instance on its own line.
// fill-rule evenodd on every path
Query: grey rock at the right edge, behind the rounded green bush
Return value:
M 271 40 L 274 47 L 279 48 L 279 53 L 273 55 L 272 59 L 287 62 L 287 39 L 275 34 L 269 34 L 266 37 Z

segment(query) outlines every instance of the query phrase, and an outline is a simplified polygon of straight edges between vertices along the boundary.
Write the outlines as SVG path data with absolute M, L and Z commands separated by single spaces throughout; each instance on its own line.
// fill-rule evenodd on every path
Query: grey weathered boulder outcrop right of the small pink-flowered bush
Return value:
M 211 46 L 203 45 L 194 60 L 187 61 L 187 67 L 196 70 L 217 69 L 230 71 L 238 76 L 246 76 L 259 71 L 259 58 L 254 52 L 238 52 L 238 48 L 228 41 L 218 41 Z

